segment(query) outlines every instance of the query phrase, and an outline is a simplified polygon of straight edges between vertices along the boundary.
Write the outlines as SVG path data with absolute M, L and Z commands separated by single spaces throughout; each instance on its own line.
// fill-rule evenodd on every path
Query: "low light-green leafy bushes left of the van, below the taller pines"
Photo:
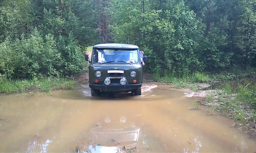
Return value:
M 29 38 L 5 40 L 0 50 L 0 73 L 7 78 L 70 76 L 85 69 L 82 50 L 71 34 L 57 43 L 52 34 L 35 30 Z

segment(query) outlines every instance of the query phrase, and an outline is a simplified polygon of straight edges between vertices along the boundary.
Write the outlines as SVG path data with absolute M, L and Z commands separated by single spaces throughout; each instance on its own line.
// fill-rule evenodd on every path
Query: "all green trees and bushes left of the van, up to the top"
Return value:
M 95 43 L 93 1 L 6 0 L 0 4 L 0 77 L 73 76 Z

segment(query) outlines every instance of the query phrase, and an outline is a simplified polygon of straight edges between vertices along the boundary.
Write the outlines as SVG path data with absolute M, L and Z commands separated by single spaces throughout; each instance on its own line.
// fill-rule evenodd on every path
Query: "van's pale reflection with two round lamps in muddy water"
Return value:
M 123 152 L 134 148 L 143 125 L 139 118 L 140 115 L 128 119 L 125 116 L 106 116 L 104 121 L 98 121 L 91 128 L 93 139 L 88 149 L 91 152 Z

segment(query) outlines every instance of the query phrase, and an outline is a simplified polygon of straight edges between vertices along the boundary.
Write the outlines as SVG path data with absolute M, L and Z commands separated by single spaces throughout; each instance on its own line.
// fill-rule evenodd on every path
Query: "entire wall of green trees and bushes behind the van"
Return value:
M 138 45 L 159 76 L 207 82 L 197 72 L 256 66 L 255 8 L 249 0 L 5 0 L 0 74 L 72 76 L 86 69 L 81 48 L 113 40 Z

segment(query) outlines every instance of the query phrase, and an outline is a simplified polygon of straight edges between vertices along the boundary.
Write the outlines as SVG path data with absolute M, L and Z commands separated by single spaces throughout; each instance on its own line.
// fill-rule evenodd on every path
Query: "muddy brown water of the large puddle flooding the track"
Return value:
M 1 95 L 0 152 L 255 152 L 235 121 L 168 86 L 142 96 L 90 97 L 74 91 Z M 154 88 L 154 89 L 152 89 Z M 124 147 L 124 148 L 123 148 Z M 136 147 L 136 148 L 134 148 Z

